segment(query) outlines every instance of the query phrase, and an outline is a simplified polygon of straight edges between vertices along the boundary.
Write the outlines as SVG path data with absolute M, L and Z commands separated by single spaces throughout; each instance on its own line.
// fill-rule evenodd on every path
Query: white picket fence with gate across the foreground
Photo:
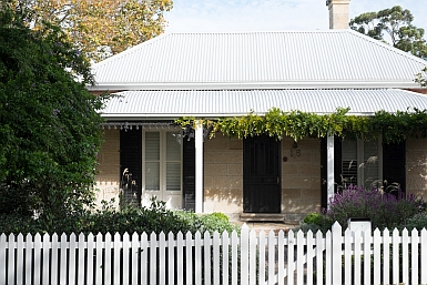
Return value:
M 427 284 L 426 230 L 0 235 L 0 284 L 400 283 Z

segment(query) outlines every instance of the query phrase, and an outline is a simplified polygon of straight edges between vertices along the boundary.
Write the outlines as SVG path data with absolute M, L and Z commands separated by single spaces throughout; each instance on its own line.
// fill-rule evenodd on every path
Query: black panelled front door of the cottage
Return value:
M 260 135 L 243 149 L 243 212 L 281 213 L 281 142 Z

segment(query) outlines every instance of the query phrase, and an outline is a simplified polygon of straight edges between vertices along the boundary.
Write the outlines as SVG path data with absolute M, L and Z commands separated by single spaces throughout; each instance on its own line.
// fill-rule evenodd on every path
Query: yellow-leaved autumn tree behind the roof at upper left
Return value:
M 164 32 L 172 0 L 13 0 L 27 23 L 60 26 L 93 61 L 103 60 Z

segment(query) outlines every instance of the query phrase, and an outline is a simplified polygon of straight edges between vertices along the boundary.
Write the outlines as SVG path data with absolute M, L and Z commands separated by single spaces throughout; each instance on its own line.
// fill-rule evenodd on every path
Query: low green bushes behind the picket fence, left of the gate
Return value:
M 128 206 L 115 211 L 108 203 L 95 212 L 69 215 L 67 220 L 34 218 L 20 214 L 0 215 L 0 233 L 195 233 L 214 231 L 236 231 L 240 227 L 232 224 L 228 217 L 221 213 L 197 215 L 186 211 L 167 210 L 162 201 L 152 200 L 149 207 Z

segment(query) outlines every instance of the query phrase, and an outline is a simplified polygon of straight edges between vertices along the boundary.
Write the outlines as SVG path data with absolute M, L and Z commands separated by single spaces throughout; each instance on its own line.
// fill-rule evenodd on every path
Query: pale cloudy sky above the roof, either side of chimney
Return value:
M 413 24 L 427 31 L 427 0 L 350 0 L 349 18 L 397 4 L 410 10 Z M 173 0 L 173 9 L 164 17 L 166 32 L 329 29 L 326 0 Z

